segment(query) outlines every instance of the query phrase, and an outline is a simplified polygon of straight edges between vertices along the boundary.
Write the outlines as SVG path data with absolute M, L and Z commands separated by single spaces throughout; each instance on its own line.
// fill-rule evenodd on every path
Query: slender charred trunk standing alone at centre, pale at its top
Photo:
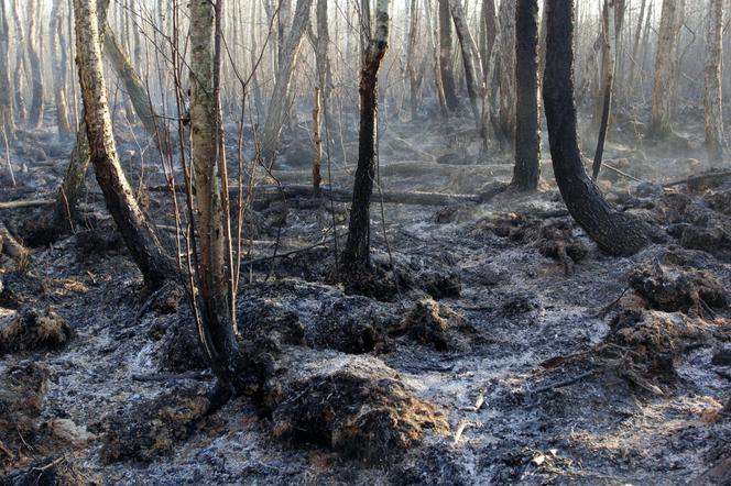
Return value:
M 375 177 L 375 130 L 378 113 L 378 75 L 389 47 L 389 0 L 378 0 L 375 32 L 368 24 L 368 48 L 360 74 L 360 136 L 358 168 L 353 184 L 348 241 L 342 256 L 346 274 L 356 275 L 369 266 L 370 202 Z

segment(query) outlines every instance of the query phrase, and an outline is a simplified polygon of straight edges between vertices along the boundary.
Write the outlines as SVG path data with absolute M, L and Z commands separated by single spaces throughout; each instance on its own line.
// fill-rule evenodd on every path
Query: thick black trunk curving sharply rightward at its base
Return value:
M 619 212 L 587 176 L 576 134 L 574 102 L 574 1 L 549 0 L 543 100 L 556 183 L 576 222 L 600 248 L 632 255 L 650 242 L 650 229 Z

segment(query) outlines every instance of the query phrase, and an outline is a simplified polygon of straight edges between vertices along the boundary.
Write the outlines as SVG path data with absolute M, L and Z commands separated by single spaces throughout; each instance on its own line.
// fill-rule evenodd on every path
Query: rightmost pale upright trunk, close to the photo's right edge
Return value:
M 723 0 L 710 0 L 706 34 L 706 150 L 708 162 L 723 159 L 723 111 L 721 96 L 721 52 L 723 46 Z

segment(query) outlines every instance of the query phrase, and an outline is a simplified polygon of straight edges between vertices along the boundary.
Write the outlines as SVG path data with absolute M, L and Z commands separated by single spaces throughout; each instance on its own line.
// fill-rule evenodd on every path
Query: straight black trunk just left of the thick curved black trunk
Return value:
M 538 117 L 538 0 L 515 7 L 515 169 L 512 185 L 536 190 L 541 178 Z

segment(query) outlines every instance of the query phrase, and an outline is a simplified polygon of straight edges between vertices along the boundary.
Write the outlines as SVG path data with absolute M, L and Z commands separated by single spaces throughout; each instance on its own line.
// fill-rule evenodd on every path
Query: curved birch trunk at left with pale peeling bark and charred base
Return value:
M 173 275 L 174 266 L 153 227 L 138 206 L 119 163 L 107 101 L 96 1 L 74 0 L 74 18 L 86 133 L 97 181 L 103 192 L 107 209 L 122 233 L 145 283 L 157 288 Z

